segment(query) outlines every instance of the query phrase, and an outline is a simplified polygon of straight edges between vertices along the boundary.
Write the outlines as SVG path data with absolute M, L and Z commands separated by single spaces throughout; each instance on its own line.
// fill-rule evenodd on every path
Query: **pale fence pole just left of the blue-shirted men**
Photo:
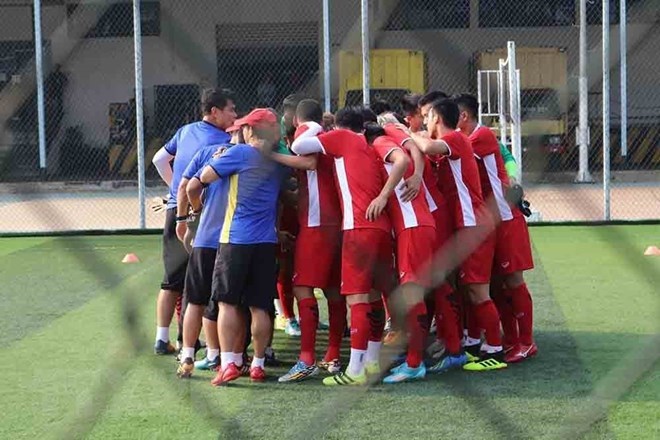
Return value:
M 138 155 L 138 199 L 140 203 L 140 229 L 146 228 L 146 192 L 144 169 L 144 115 L 142 105 L 142 24 L 140 0 L 133 0 L 133 47 L 135 52 L 135 120 Z

